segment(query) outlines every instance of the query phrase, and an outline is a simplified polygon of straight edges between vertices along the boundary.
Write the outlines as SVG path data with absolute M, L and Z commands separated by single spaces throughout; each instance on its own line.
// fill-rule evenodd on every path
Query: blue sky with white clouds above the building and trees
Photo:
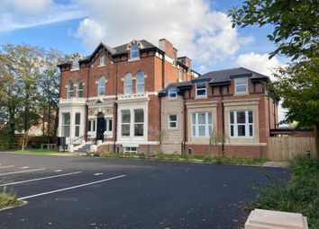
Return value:
M 271 75 L 285 59 L 269 52 L 272 27 L 232 29 L 228 11 L 242 0 L 2 0 L 0 45 L 29 44 L 86 56 L 102 41 L 169 40 L 200 74 L 244 66 Z M 279 110 L 282 119 L 283 112 Z

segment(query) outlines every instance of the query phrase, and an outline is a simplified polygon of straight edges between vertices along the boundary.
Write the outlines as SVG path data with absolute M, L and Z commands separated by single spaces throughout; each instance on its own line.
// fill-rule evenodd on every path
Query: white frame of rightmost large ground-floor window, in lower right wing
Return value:
M 245 112 L 245 122 L 244 123 L 238 123 L 237 112 Z M 252 122 L 250 122 L 250 112 L 251 112 Z M 233 123 L 232 123 L 232 115 L 233 115 Z M 238 126 L 244 126 L 245 136 L 238 135 Z M 254 111 L 253 110 L 231 110 L 229 112 L 229 136 L 231 138 L 253 138 L 253 137 L 255 137 L 254 128 L 255 128 L 255 123 L 254 123 Z M 233 130 L 233 135 L 232 135 L 232 130 Z

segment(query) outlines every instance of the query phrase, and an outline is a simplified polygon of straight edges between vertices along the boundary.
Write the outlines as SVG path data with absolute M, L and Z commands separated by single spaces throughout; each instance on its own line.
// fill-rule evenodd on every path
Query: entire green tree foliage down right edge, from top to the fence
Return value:
M 319 2 L 316 0 L 250 0 L 234 7 L 229 16 L 232 26 L 272 25 L 268 35 L 276 49 L 269 58 L 281 55 L 291 59 L 278 68 L 278 81 L 270 84 L 287 108 L 284 122 L 297 121 L 297 128 L 319 129 Z M 316 134 L 317 151 L 319 137 Z M 319 152 L 318 152 L 319 154 Z

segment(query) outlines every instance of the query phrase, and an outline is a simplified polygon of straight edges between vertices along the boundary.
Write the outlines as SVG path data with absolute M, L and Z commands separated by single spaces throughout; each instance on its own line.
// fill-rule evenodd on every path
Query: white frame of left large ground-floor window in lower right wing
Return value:
M 198 121 L 198 116 L 199 114 L 205 114 L 205 124 L 200 124 Z M 211 123 L 209 123 L 209 114 L 211 114 Z M 193 117 L 195 115 L 195 123 L 193 120 Z M 204 111 L 204 112 L 194 112 L 191 115 L 191 133 L 192 133 L 192 137 L 195 138 L 207 138 L 207 137 L 211 137 L 212 133 L 213 133 L 213 112 L 209 112 L 209 111 Z M 200 127 L 205 127 L 205 136 L 200 136 L 199 135 L 199 128 Z M 194 128 L 195 128 L 195 133 L 194 133 Z M 211 131 L 210 131 L 211 130 Z

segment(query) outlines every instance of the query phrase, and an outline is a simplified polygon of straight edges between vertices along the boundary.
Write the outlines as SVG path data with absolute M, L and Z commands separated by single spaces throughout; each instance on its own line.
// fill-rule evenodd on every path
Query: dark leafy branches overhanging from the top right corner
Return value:
M 319 2 L 317 0 L 250 0 L 230 10 L 232 27 L 238 25 L 273 25 L 268 35 L 277 48 L 269 57 L 277 54 L 298 58 L 318 55 Z

